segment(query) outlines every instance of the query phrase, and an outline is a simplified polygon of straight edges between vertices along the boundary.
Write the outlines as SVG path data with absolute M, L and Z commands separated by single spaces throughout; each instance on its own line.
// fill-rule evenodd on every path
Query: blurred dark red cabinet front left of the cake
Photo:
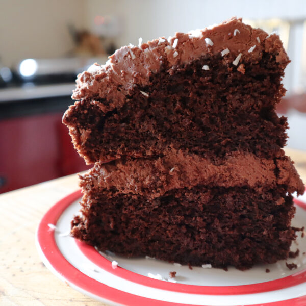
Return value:
M 0 121 L 0 193 L 88 168 L 62 124 L 63 112 Z

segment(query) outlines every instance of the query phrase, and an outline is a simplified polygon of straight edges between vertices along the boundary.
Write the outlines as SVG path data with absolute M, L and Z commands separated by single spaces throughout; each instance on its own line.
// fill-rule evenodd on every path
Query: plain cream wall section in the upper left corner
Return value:
M 64 56 L 73 47 L 67 29 L 85 26 L 85 0 L 0 0 L 0 63 Z

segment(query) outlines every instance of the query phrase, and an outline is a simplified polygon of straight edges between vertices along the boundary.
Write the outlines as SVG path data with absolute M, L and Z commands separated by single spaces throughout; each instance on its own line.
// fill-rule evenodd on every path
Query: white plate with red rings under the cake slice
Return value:
M 69 236 L 81 191 L 57 202 L 42 218 L 36 246 L 43 263 L 72 288 L 110 305 L 302 306 L 306 305 L 306 235 L 291 250 L 299 255 L 247 271 L 181 266 L 152 258 L 126 259 Z M 293 226 L 306 225 L 306 196 L 295 199 Z M 290 270 L 286 262 L 297 265 Z M 267 270 L 268 269 L 268 270 Z M 171 278 L 170 272 L 176 272 Z M 267 273 L 267 271 L 270 271 Z

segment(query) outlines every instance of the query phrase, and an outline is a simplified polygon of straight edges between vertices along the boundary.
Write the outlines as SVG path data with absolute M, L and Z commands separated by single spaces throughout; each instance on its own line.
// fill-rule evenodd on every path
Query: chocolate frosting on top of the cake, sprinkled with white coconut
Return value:
M 92 103 L 106 113 L 121 108 L 129 90 L 136 84 L 144 87 L 150 75 L 162 67 L 170 71 L 202 56 L 220 54 L 225 64 L 243 72 L 243 63 L 258 63 L 263 52 L 275 55 L 276 62 L 284 68 L 289 62 L 277 35 L 268 35 L 232 18 L 213 28 L 176 33 L 174 37 L 155 39 L 138 47 L 123 46 L 105 65 L 94 64 L 78 75 L 72 98 L 93 99 Z

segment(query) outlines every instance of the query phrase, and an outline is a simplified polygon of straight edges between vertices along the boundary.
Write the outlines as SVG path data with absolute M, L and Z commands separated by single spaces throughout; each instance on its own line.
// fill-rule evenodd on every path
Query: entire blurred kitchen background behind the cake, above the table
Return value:
M 304 0 L 0 0 L 0 193 L 87 168 L 61 123 L 79 72 L 139 37 L 232 16 L 281 35 L 292 63 L 277 111 L 289 117 L 288 146 L 306 151 Z

